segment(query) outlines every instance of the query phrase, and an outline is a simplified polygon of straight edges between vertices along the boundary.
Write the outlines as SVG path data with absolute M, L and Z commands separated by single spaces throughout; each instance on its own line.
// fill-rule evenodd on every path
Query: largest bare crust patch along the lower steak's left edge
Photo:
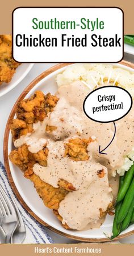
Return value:
M 18 166 L 23 172 L 24 177 L 30 179 L 37 190 L 39 196 L 43 199 L 45 206 L 51 209 L 58 209 L 58 205 L 68 191 L 74 190 L 70 183 L 61 180 L 59 187 L 55 188 L 33 173 L 32 167 L 35 163 L 40 163 L 43 166 L 47 165 L 48 149 L 45 147 L 38 153 L 31 153 L 26 144 L 20 146 L 18 149 L 12 150 L 9 158 L 12 163 Z

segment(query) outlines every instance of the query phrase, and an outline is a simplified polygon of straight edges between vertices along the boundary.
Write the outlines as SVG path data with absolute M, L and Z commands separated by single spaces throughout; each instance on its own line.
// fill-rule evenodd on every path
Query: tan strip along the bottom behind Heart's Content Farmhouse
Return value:
M 79 247 L 79 248 L 86 248 L 86 247 L 90 247 L 90 248 L 101 248 L 101 253 L 35 253 L 35 247 L 39 247 L 39 248 L 46 248 L 46 247 L 58 247 L 58 248 L 69 248 L 69 247 Z M 129 246 L 129 247 L 128 247 Z M 129 248 L 129 249 L 128 249 Z M 129 250 L 129 252 L 128 252 Z M 24 255 L 29 255 L 29 256 L 39 256 L 39 255 L 43 255 L 43 256 L 63 256 L 63 255 L 67 255 L 67 256 L 86 256 L 86 255 L 91 255 L 91 256 L 113 256 L 113 255 L 122 255 L 122 256 L 133 256 L 133 245 L 107 245 L 107 244 L 90 244 L 90 243 L 85 243 L 85 244 L 77 244 L 77 245 L 66 245 L 66 244 L 62 244 L 62 245 L 0 245 L 0 253 L 1 255 L 14 255 L 14 256 L 24 256 Z

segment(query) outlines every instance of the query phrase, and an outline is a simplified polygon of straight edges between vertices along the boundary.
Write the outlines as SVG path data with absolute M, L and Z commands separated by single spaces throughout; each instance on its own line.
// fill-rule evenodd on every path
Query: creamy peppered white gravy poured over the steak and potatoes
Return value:
M 98 153 L 108 145 L 114 135 L 113 123 L 97 123 L 91 121 L 83 113 L 83 100 L 90 92 L 82 82 L 74 82 L 58 88 L 59 98 L 52 113 L 44 121 L 33 125 L 34 132 L 24 135 L 15 141 L 15 147 L 27 143 L 32 153 L 47 145 L 47 167 L 36 163 L 33 172 L 53 187 L 58 187 L 58 181 L 65 179 L 72 183 L 76 191 L 66 195 L 60 202 L 58 213 L 72 229 L 85 229 L 100 226 L 100 209 L 106 211 L 113 201 L 108 177 L 114 176 L 116 169 L 123 165 L 123 156 L 131 151 L 134 145 L 134 107 L 124 118 L 116 122 L 114 141 L 107 148 L 107 155 Z M 46 125 L 56 126 L 51 134 L 46 133 Z M 72 137 L 96 138 L 87 147 L 88 161 L 73 161 L 64 157 L 64 143 Z M 104 170 L 104 177 L 99 178 L 97 171 Z M 111 182 L 112 183 L 112 182 Z

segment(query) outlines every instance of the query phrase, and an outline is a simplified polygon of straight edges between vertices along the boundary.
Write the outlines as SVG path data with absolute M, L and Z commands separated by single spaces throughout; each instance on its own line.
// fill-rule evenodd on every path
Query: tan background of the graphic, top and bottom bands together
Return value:
M 134 34 L 134 26 L 133 26 L 133 7 L 134 2 L 132 0 L 85 0 L 82 2 L 68 0 L 68 2 L 63 2 L 61 0 L 5 0 L 1 2 L 1 15 L 0 15 L 0 34 L 9 34 L 11 33 L 11 13 L 16 7 L 19 6 L 117 6 L 123 9 L 124 11 L 124 34 Z M 114 17 L 113 17 L 114 18 Z M 3 98 L 4 100 L 5 98 Z M 35 254 L 34 247 L 47 247 L 48 245 L 0 245 L 0 255 L 57 255 L 57 254 Z M 49 245 L 49 247 L 55 245 Z M 58 245 L 58 247 L 67 247 L 74 245 Z M 75 245 L 76 246 L 76 245 Z M 99 247 L 102 249 L 101 254 L 91 254 L 91 255 L 133 255 L 133 247 L 134 245 L 77 245 L 78 247 Z M 58 254 L 58 256 L 63 254 Z M 70 254 L 65 254 L 70 255 Z M 75 254 L 75 255 L 88 255 L 88 254 Z

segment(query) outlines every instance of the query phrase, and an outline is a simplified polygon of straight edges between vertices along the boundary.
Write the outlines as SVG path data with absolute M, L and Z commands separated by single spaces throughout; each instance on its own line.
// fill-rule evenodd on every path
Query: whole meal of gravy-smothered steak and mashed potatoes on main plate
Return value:
M 55 95 L 36 91 L 18 103 L 16 119 L 10 124 L 15 149 L 9 158 L 34 183 L 45 206 L 53 210 L 62 226 L 93 229 L 102 225 L 106 214 L 113 215 L 119 175 L 133 168 L 134 107 L 116 121 L 114 141 L 106 154 L 99 154 L 99 145 L 104 149 L 113 138 L 113 123 L 87 118 L 83 101 L 91 90 L 107 83 L 132 93 L 134 75 L 112 65 L 82 64 L 67 67 L 56 81 Z M 129 172 L 124 179 L 127 185 L 124 189 L 120 185 L 118 199 L 131 187 Z M 129 200 L 129 206 L 131 203 Z M 114 235 L 118 234 L 117 212 L 122 207 L 119 201 Z

